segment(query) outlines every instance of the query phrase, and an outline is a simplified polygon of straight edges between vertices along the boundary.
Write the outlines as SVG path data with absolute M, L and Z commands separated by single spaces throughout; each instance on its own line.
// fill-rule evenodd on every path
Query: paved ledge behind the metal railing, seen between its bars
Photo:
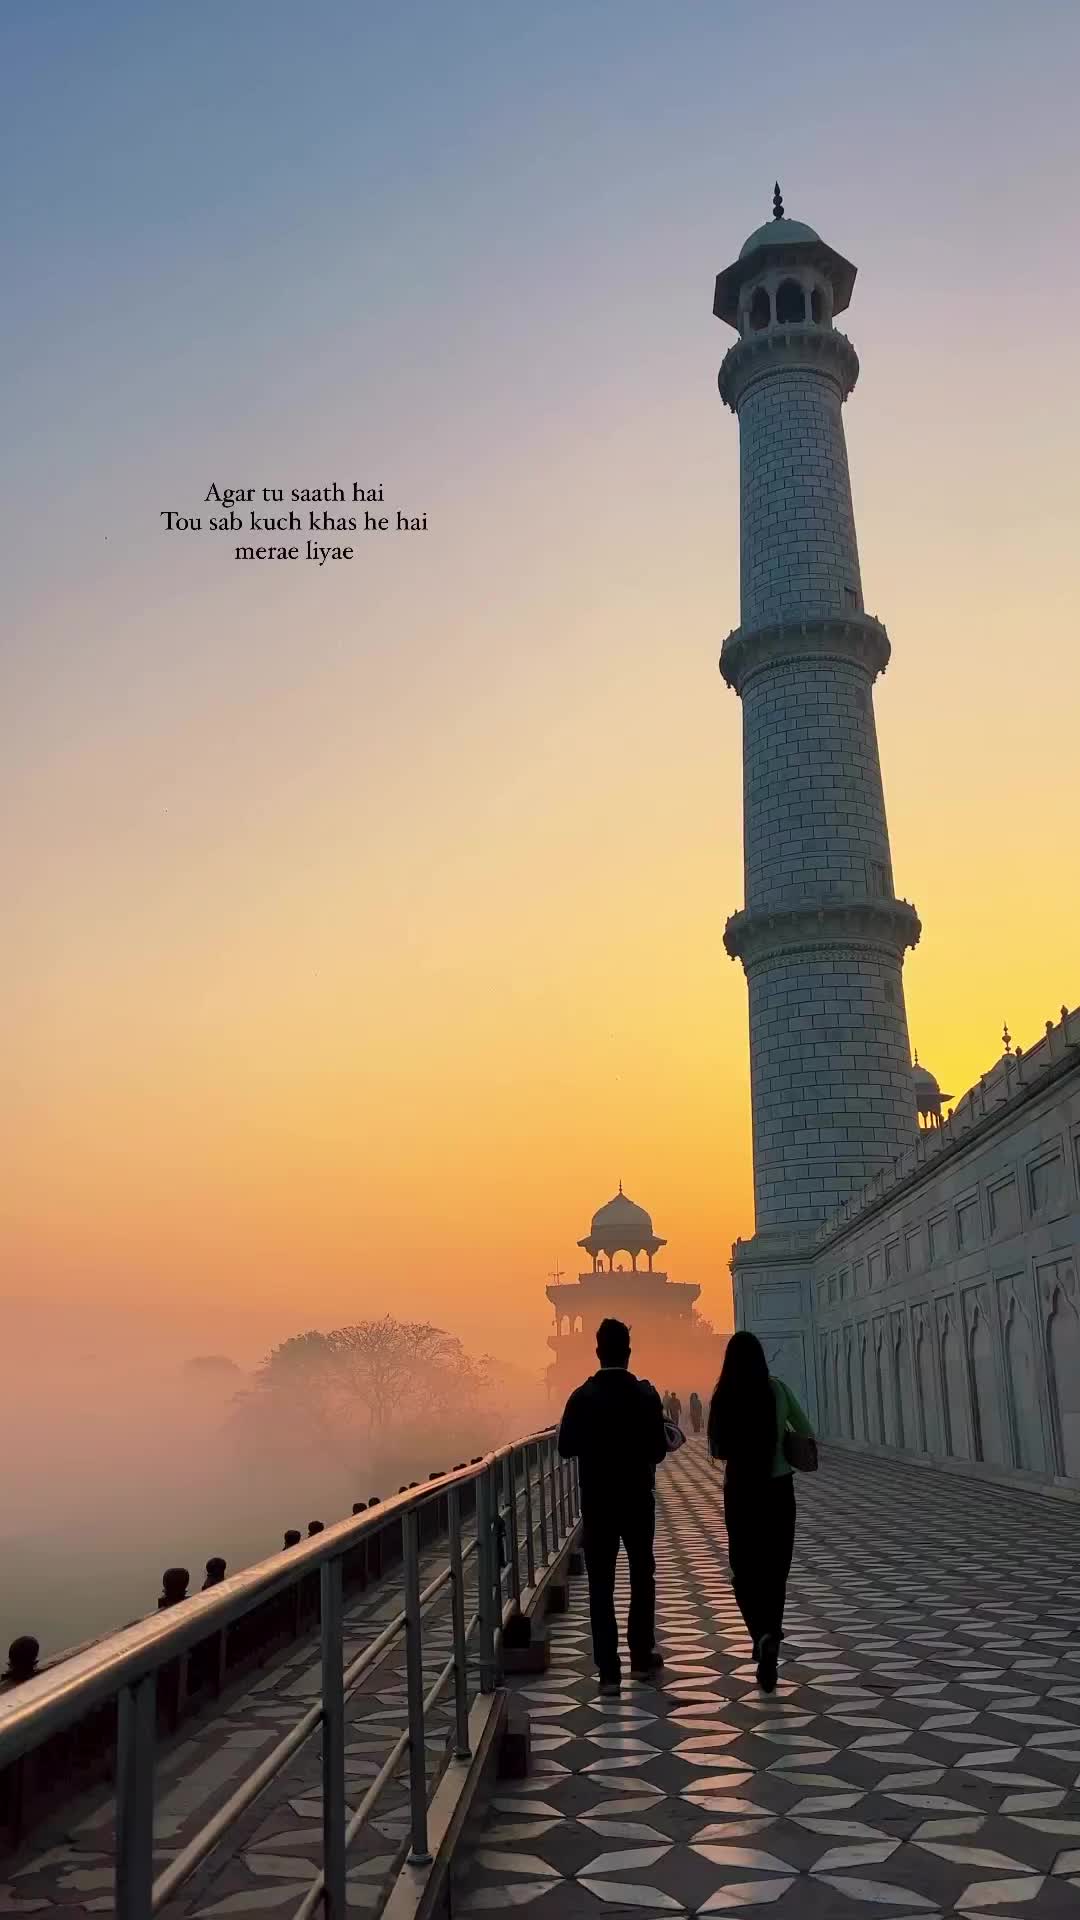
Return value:
M 473 1528 L 465 1538 L 471 1538 Z M 421 1590 L 446 1565 L 446 1544 L 421 1555 Z M 475 1607 L 477 1563 L 465 1563 L 465 1605 Z M 346 1667 L 402 1609 L 402 1569 L 365 1592 L 346 1615 Z M 452 1649 L 450 1588 L 425 1613 L 425 1680 L 430 1684 Z M 223 1713 L 192 1720 L 165 1747 L 156 1768 L 154 1870 L 160 1872 L 242 1786 L 265 1753 L 300 1720 L 321 1692 L 319 1632 L 267 1667 Z M 471 1676 L 475 1692 L 475 1674 Z M 361 1799 L 405 1722 L 405 1644 L 398 1636 L 346 1699 L 346 1797 Z M 454 1688 L 430 1709 L 425 1726 L 429 1776 L 442 1770 L 454 1730 Z M 371 1912 L 382 1905 L 409 1832 L 407 1753 L 371 1820 L 348 1853 L 348 1905 Z M 194 1914 L 294 1912 L 323 1853 L 321 1740 L 313 1734 L 267 1789 L 242 1812 L 221 1845 L 161 1912 Z M 113 1910 L 113 1789 L 98 1789 L 67 1816 L 35 1834 L 27 1859 L 0 1866 L 0 1916 L 61 1908 L 65 1920 Z

